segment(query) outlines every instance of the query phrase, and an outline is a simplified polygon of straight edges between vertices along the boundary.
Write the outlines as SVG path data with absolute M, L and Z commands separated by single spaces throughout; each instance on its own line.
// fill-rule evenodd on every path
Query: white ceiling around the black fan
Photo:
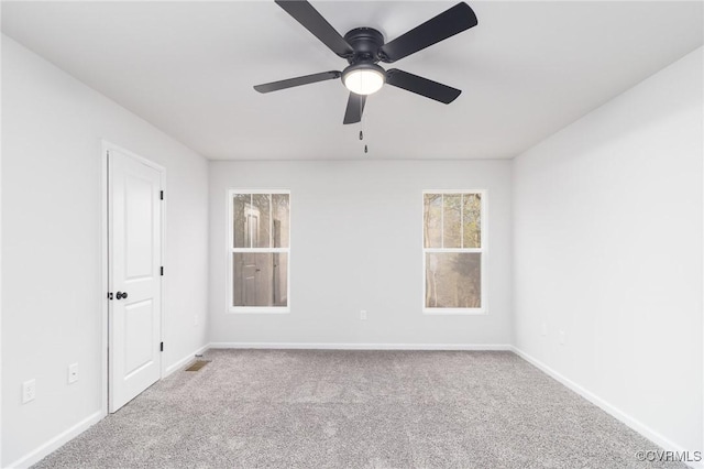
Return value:
M 455 2 L 311 3 L 391 40 Z M 339 80 L 252 88 L 346 65 L 273 1 L 3 1 L 2 31 L 213 160 L 513 157 L 704 42 L 700 1 L 469 3 L 476 28 L 393 65 L 462 95 L 384 87 L 367 155 Z

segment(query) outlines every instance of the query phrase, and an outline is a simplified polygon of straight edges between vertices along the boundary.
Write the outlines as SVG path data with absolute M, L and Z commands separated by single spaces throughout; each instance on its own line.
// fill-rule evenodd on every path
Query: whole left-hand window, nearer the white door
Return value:
M 230 190 L 229 307 L 233 313 L 287 313 L 290 193 Z

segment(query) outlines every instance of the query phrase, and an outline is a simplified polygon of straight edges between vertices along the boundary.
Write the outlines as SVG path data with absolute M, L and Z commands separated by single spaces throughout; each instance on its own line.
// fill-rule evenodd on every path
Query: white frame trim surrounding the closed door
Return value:
M 109 336 L 109 312 L 110 312 L 110 301 L 108 299 L 108 292 L 110 291 L 110 243 L 109 243 L 109 226 L 108 226 L 108 190 L 109 190 L 109 174 L 108 174 L 108 153 L 110 151 L 118 151 L 120 153 L 125 154 L 127 156 L 160 172 L 160 181 L 162 190 L 166 192 L 166 168 L 157 163 L 154 163 L 151 160 L 147 160 L 139 154 L 131 152 L 122 146 L 116 145 L 107 140 L 101 140 L 101 152 L 100 152 L 100 284 L 102 286 L 102 292 L 100 292 L 100 330 L 101 330 L 101 352 L 100 352 L 100 362 L 101 362 L 101 389 L 100 389 L 100 401 L 101 401 L 101 410 L 103 416 L 107 416 L 110 413 L 109 410 L 109 380 L 110 380 L 110 367 L 109 367 L 109 353 L 108 348 L 110 347 L 110 336 Z M 160 255 L 162 258 L 162 265 L 165 265 L 165 232 L 166 232 L 166 197 L 162 200 L 162 210 L 161 210 L 161 252 Z M 160 323 L 161 323 L 161 337 L 160 340 L 164 341 L 164 304 L 165 304 L 165 281 L 164 275 L 160 276 L 161 284 L 161 307 L 160 307 Z M 160 358 L 160 380 L 162 380 L 166 375 L 166 367 L 165 360 L 162 355 Z

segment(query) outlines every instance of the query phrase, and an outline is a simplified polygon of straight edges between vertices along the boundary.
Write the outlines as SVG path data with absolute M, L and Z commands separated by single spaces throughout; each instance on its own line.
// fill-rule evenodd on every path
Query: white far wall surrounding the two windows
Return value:
M 227 312 L 228 188 L 290 189 L 290 314 Z M 443 188 L 488 190 L 488 315 L 421 313 L 421 190 Z M 508 345 L 510 162 L 211 162 L 210 280 L 213 342 Z

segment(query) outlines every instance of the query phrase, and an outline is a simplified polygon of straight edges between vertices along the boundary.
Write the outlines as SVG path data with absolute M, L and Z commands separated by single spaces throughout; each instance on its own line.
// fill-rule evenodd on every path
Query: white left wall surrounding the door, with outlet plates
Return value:
M 207 343 L 208 174 L 201 156 L 7 36 L 2 100 L 7 466 L 102 412 L 101 139 L 166 167 L 167 364 Z M 68 385 L 74 362 L 80 380 Z M 36 400 L 22 405 L 32 378 Z

